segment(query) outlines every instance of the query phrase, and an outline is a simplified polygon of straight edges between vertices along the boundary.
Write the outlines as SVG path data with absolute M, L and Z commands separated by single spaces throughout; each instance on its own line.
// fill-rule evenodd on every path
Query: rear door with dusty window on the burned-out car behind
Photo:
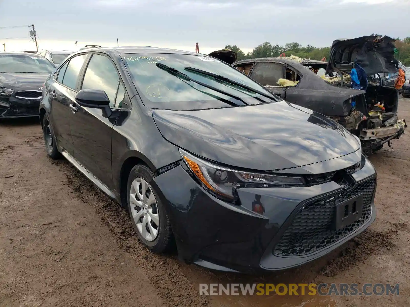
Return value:
M 262 84 L 271 93 L 286 99 L 286 87 L 278 86 L 279 79 L 284 76 L 284 65 L 274 62 L 257 62 L 249 75 L 249 77 Z

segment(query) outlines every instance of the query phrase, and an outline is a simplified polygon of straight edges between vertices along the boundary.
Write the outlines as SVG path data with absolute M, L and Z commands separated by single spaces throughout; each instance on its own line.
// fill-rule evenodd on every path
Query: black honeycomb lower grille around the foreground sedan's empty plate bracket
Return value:
M 354 185 L 350 190 L 308 201 L 296 214 L 273 253 L 281 256 L 307 255 L 346 237 L 370 219 L 375 188 L 376 178 L 372 177 Z M 343 229 L 333 230 L 336 205 L 360 194 L 363 194 L 362 217 Z

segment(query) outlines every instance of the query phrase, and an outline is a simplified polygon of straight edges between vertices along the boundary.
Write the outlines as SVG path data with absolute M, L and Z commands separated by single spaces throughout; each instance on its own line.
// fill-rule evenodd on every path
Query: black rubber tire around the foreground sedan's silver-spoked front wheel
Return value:
M 168 251 L 172 247 L 173 242 L 173 235 L 171 230 L 171 223 L 169 221 L 169 217 L 165 212 L 164 205 L 162 204 L 157 191 L 155 191 L 154 187 L 150 185 L 150 190 L 154 193 L 155 196 L 155 204 L 159 215 L 159 227 L 157 237 L 153 241 L 146 240 L 142 234 L 139 232 L 137 225 L 132 217 L 132 210 L 131 210 L 131 202 L 130 202 L 130 192 L 131 192 L 131 185 L 134 179 L 136 178 L 143 178 L 147 183 L 150 183 L 155 174 L 151 171 L 151 169 L 144 165 L 144 164 L 137 164 L 135 165 L 128 176 L 128 185 L 127 185 L 127 203 L 128 203 L 128 212 L 130 212 L 130 218 L 132 222 L 132 226 L 134 226 L 135 232 L 137 233 L 139 239 L 148 247 L 148 249 L 153 253 L 163 253 L 164 251 Z

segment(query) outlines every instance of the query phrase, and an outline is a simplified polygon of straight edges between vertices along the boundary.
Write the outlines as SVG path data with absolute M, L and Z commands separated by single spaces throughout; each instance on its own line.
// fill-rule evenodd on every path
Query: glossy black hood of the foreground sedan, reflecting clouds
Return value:
M 357 138 L 319 113 L 285 101 L 211 110 L 153 110 L 164 138 L 225 165 L 262 171 L 347 155 Z

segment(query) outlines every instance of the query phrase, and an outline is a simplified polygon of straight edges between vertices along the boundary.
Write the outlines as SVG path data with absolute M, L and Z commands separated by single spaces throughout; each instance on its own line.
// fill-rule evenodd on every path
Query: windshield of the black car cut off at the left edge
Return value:
M 0 54 L 0 71 L 4 73 L 50 74 L 54 69 L 43 56 Z

